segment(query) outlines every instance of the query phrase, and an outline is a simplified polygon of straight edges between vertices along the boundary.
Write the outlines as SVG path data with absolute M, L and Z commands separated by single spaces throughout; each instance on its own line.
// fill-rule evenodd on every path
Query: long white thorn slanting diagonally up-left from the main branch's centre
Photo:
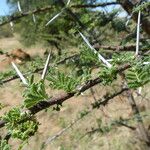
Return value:
M 89 43 L 89 41 L 86 39 L 86 37 L 85 37 L 81 32 L 79 32 L 79 34 L 80 34 L 81 37 L 83 38 L 84 42 L 89 46 L 89 48 L 90 48 L 91 50 L 93 50 L 95 54 L 98 55 L 99 60 L 101 60 L 104 64 L 106 64 L 106 66 L 107 66 L 108 68 L 111 68 L 112 65 L 111 65 L 101 54 L 99 54 L 99 53 L 96 51 L 96 49 Z

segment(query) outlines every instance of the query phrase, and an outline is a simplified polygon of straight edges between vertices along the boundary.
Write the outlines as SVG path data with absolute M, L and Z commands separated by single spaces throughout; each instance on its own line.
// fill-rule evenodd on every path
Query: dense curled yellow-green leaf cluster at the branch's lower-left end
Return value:
M 21 112 L 19 108 L 11 109 L 5 114 L 3 120 L 7 122 L 6 128 L 11 136 L 23 141 L 33 136 L 39 125 L 33 116 L 26 112 Z

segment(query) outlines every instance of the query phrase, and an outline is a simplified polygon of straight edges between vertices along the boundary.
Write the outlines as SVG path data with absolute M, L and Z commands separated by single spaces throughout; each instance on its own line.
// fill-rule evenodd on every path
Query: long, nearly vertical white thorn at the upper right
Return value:
M 141 11 L 138 14 L 138 23 L 137 23 L 137 34 L 136 34 L 136 52 L 135 55 L 137 56 L 139 53 L 139 42 L 140 42 L 140 20 L 141 20 Z

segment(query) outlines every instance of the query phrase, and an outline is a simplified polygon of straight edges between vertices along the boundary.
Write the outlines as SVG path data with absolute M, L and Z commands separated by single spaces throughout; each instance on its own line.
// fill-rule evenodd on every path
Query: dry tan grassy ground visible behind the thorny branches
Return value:
M 44 50 L 44 48 L 39 45 L 32 48 L 25 48 L 16 40 L 16 37 L 1 39 L 0 45 L 0 48 L 6 51 L 22 48 L 31 56 L 37 54 L 43 55 Z M 23 89 L 18 80 L 5 84 L 0 88 L 0 102 L 5 105 L 5 108 L 0 111 L 1 115 L 10 108 L 22 103 L 21 94 Z M 102 97 L 106 92 L 112 91 L 111 88 L 99 85 L 93 89 L 97 99 Z M 47 92 L 49 95 L 57 95 L 60 93 L 59 91 L 54 92 L 52 90 L 48 90 Z M 139 100 L 140 98 L 137 99 L 137 101 Z M 49 136 L 55 135 L 59 130 L 66 127 L 71 121 L 76 119 L 80 111 L 90 107 L 92 102 L 94 102 L 94 100 L 88 90 L 83 96 L 73 97 L 66 101 L 60 112 L 52 111 L 52 108 L 50 108 L 47 112 L 42 111 L 38 113 L 36 116 L 41 125 L 39 126 L 37 134 L 29 139 L 29 144 L 25 146 L 24 150 L 40 150 L 41 144 Z M 143 100 L 143 102 L 145 101 Z M 61 137 L 50 143 L 46 147 L 46 150 L 142 150 L 143 147 L 141 144 L 137 144 L 134 132 L 125 127 L 115 127 L 112 131 L 105 134 L 97 132 L 91 136 L 85 135 L 87 131 L 97 127 L 96 119 L 101 118 L 105 125 L 107 125 L 114 119 L 119 119 L 120 117 L 128 118 L 130 112 L 131 110 L 127 99 L 124 96 L 118 96 L 111 100 L 106 107 L 93 110 L 91 114 L 80 120 Z M 148 123 L 149 121 L 147 120 L 147 124 Z M 0 133 L 3 134 L 4 129 L 0 129 Z M 13 150 L 16 150 L 18 141 L 11 140 L 10 143 L 13 145 Z

